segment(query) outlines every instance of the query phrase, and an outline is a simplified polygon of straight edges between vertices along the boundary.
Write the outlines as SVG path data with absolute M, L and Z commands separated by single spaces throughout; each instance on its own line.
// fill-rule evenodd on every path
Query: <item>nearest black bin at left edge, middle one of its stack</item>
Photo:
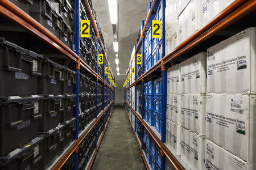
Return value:
M 43 97 L 0 97 L 0 156 L 38 135 Z

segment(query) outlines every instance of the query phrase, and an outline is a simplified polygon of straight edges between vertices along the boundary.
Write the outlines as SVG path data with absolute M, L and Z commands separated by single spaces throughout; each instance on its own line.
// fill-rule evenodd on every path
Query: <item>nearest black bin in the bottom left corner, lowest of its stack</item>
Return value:
M 0 157 L 1 170 L 42 169 L 43 137 L 36 137 L 26 145 Z

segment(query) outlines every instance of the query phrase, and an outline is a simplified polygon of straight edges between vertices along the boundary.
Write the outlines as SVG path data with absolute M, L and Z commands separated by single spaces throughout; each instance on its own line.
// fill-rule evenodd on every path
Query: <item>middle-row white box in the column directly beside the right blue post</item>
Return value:
M 167 94 L 167 120 L 175 122 L 175 124 L 180 124 L 180 112 L 179 112 L 179 95 Z

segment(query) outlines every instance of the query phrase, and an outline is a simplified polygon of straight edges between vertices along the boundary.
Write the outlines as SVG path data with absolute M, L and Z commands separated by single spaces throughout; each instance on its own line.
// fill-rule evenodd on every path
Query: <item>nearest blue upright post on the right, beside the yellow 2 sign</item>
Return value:
M 162 0 L 162 58 L 166 56 L 166 0 Z M 163 62 L 163 60 L 162 60 Z M 167 105 L 167 70 L 162 63 L 162 142 L 166 142 L 166 105 Z M 165 156 L 162 155 L 161 169 L 164 170 L 166 167 Z

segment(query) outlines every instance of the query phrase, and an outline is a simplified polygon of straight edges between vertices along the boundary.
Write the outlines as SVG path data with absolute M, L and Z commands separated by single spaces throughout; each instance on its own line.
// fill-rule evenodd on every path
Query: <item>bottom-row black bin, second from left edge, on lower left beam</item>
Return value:
M 64 141 L 63 125 L 48 130 L 40 136 L 44 137 L 43 169 L 46 169 L 61 154 L 61 145 L 63 145 Z

